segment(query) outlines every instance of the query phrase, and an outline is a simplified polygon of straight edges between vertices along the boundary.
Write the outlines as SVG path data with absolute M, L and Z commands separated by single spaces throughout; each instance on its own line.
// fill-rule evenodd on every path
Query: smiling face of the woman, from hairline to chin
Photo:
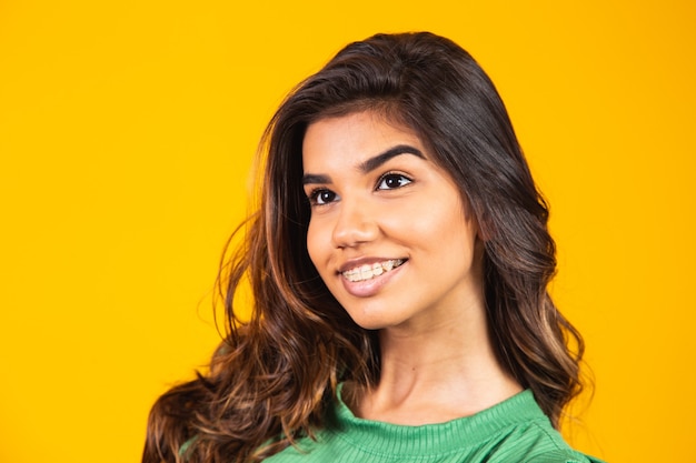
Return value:
M 412 131 L 369 111 L 320 119 L 302 162 L 309 256 L 356 323 L 418 330 L 480 308 L 476 222 Z

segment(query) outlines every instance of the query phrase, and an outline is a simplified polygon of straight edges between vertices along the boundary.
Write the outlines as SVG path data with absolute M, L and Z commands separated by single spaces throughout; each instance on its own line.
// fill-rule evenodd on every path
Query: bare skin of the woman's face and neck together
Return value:
M 411 130 L 369 111 L 321 119 L 305 135 L 309 255 L 356 323 L 379 330 L 379 383 L 350 394 L 361 417 L 438 423 L 521 390 L 488 336 L 478 225 L 430 159 Z M 355 269 L 361 281 L 347 278 Z

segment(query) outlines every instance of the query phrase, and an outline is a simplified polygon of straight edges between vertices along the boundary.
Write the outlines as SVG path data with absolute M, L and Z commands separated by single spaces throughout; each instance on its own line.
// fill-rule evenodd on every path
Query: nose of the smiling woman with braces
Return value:
M 377 218 L 365 202 L 340 202 L 340 210 L 334 225 L 332 240 L 337 248 L 354 248 L 374 240 L 379 233 Z

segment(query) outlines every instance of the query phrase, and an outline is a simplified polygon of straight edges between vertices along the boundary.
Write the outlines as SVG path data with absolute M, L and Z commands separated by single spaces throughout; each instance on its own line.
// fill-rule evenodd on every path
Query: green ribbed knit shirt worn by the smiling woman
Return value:
M 340 400 L 317 441 L 302 439 L 268 463 L 593 463 L 568 446 L 524 391 L 475 415 L 421 426 L 356 417 Z

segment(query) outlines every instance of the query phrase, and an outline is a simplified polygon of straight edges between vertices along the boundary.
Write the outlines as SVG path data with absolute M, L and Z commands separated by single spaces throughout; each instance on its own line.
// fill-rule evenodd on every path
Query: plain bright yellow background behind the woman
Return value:
M 218 341 L 210 288 L 282 95 L 350 40 L 469 50 L 550 200 L 610 462 L 695 462 L 696 7 L 0 1 L 0 461 L 139 461 Z

